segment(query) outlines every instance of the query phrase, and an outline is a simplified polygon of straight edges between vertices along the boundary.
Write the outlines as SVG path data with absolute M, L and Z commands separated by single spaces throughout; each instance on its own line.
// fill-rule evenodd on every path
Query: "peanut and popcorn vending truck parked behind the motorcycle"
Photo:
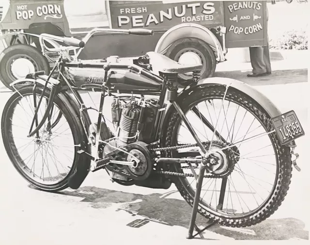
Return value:
M 16 53 L 21 59 L 33 58 L 34 67 L 25 71 L 48 72 L 37 35 L 82 39 L 94 28 L 146 28 L 154 35 L 96 33 L 77 59 L 130 58 L 155 51 L 180 63 L 201 63 L 202 78 L 210 77 L 217 63 L 226 61 L 229 48 L 267 45 L 267 4 L 255 0 L 1 0 L 0 42 L 5 49 L 0 55 L 0 79 L 10 84 L 27 75 L 12 68 L 16 66 L 10 57 Z M 50 54 L 49 58 L 57 57 Z

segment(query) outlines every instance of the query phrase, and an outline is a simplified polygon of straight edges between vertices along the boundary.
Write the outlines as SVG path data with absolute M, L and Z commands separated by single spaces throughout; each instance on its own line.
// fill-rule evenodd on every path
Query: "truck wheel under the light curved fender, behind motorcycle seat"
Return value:
M 202 78 L 212 77 L 217 66 L 212 48 L 198 38 L 186 37 L 175 41 L 167 49 L 165 55 L 181 64 L 202 64 Z M 179 76 L 183 79 L 192 78 L 191 73 L 180 74 Z

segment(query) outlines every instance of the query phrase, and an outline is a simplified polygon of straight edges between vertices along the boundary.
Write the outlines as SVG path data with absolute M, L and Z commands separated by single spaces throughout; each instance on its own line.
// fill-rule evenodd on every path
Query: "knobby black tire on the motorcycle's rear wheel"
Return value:
M 223 97 L 225 92 L 225 87 L 220 85 L 212 85 L 208 87 L 199 87 L 194 92 L 190 93 L 186 96 L 186 99 L 180 100 L 179 105 L 186 111 L 190 104 L 194 103 L 195 101 L 207 98 L 207 97 L 215 97 L 220 98 Z M 237 102 L 241 106 L 245 107 L 247 110 L 252 112 L 255 116 L 257 116 L 261 123 L 266 126 L 268 131 L 273 130 L 273 126 L 270 122 L 270 116 L 263 110 L 263 107 L 258 105 L 256 101 L 250 98 L 248 95 L 237 91 L 233 88 L 229 88 L 227 92 L 227 98 L 230 98 L 231 101 Z M 222 98 L 221 97 L 221 98 Z M 168 115 L 167 115 L 168 116 Z M 173 145 L 172 142 L 172 134 L 173 130 L 175 130 L 176 125 L 178 125 L 178 120 L 180 120 L 180 116 L 175 109 L 171 111 L 171 115 L 169 115 L 171 120 L 169 121 L 165 142 L 163 143 L 163 147 L 168 147 Z M 271 195 L 271 198 L 268 199 L 267 203 L 256 212 L 254 215 L 243 217 L 243 218 L 227 218 L 224 216 L 217 216 L 202 207 L 202 204 L 199 203 L 198 206 L 198 213 L 202 216 L 215 221 L 216 223 L 229 226 L 229 227 L 248 227 L 255 224 L 258 224 L 265 220 L 266 218 L 270 217 L 272 214 L 278 210 L 279 206 L 281 205 L 282 201 L 284 200 L 287 192 L 289 190 L 289 185 L 291 184 L 291 177 L 292 177 L 292 161 L 290 156 L 290 148 L 283 147 L 280 145 L 279 139 L 277 138 L 276 134 L 271 134 L 272 142 L 274 143 L 277 152 L 275 154 L 278 156 L 278 181 L 277 185 L 274 188 L 274 192 Z M 171 157 L 171 152 L 166 154 L 166 157 Z M 167 165 L 168 171 L 177 171 L 180 172 L 179 169 L 175 168 L 175 165 Z M 194 199 L 188 193 L 185 186 L 182 184 L 182 179 L 180 177 L 172 177 L 172 182 L 176 185 L 177 189 L 179 190 L 182 197 L 186 200 L 186 202 L 192 207 Z

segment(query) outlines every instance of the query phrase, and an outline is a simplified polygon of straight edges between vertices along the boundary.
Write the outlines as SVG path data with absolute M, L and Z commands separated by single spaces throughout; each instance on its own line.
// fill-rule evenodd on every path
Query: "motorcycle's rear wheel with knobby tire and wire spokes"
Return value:
M 202 86 L 180 107 L 206 149 L 211 145 L 217 150 L 211 159 L 216 168 L 202 183 L 199 213 L 221 225 L 247 227 L 268 218 L 284 200 L 292 173 L 290 148 L 269 133 L 273 130 L 270 117 L 255 100 L 231 87 L 224 94 L 225 86 Z M 171 120 L 162 147 L 196 143 L 176 110 L 167 116 Z M 166 157 L 195 158 L 201 156 L 199 151 L 182 148 L 166 152 Z M 198 175 L 200 167 L 171 164 L 166 170 L 195 176 L 193 171 Z M 183 176 L 172 181 L 192 206 L 196 179 Z

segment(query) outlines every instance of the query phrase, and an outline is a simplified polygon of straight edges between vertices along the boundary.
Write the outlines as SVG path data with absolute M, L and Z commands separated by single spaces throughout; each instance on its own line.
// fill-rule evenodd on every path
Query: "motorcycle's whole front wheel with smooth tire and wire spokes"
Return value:
M 42 91 L 42 87 L 37 87 L 37 102 Z M 38 122 L 49 95 L 45 92 L 38 108 Z M 33 108 L 31 86 L 23 87 L 8 100 L 1 118 L 4 148 L 16 170 L 30 184 L 48 191 L 65 189 L 76 166 L 89 161 L 77 153 L 79 145 L 83 146 L 82 127 L 69 103 L 56 96 L 51 114 L 39 130 L 39 138 L 36 135 L 28 138 Z

